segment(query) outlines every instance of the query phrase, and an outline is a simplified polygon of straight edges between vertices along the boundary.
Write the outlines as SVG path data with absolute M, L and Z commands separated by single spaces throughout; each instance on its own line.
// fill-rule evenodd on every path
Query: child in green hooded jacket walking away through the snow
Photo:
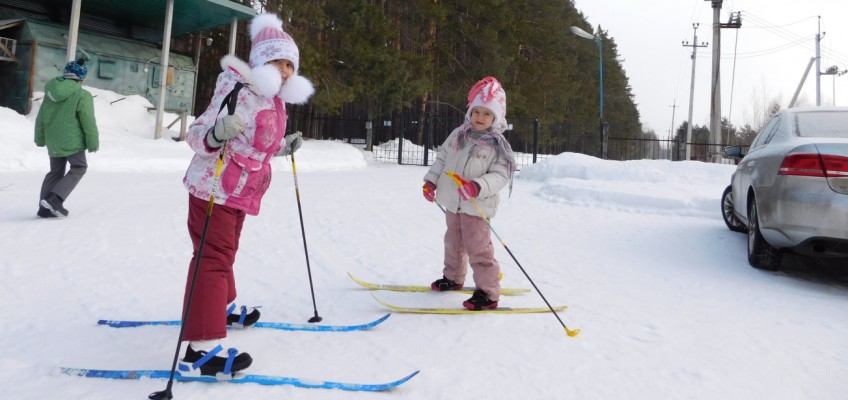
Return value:
M 94 153 L 100 147 L 94 99 L 82 88 L 87 73 L 85 59 L 71 61 L 62 76 L 44 85 L 44 102 L 35 118 L 35 145 L 47 146 L 50 172 L 41 185 L 40 218 L 68 216 L 64 202 L 88 169 L 85 151 Z

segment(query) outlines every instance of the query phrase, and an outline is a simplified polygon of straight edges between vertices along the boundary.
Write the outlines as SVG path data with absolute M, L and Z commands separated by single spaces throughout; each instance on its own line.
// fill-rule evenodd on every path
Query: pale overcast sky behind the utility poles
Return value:
M 711 1 L 706 0 L 574 0 L 595 28 L 615 40 L 643 129 L 667 137 L 672 126 L 688 119 L 692 76 L 693 23 L 698 23 L 695 98 L 692 120 L 709 125 L 712 68 Z M 721 109 L 733 124 L 757 128 L 771 100 L 787 107 L 810 58 L 815 57 L 821 23 L 821 69 L 848 69 L 848 12 L 837 0 L 725 0 L 720 21 L 742 12 L 740 29 L 722 29 Z M 821 16 L 819 20 L 818 16 Z M 735 58 L 734 58 L 735 54 Z M 734 73 L 735 72 L 735 73 Z M 835 77 L 836 105 L 848 106 L 848 74 Z M 834 76 L 821 77 L 821 103 L 834 100 Z M 797 101 L 816 104 L 815 63 Z M 676 104 L 677 107 L 673 107 Z M 674 114 L 672 114 L 674 112 Z M 610 127 L 614 135 L 615 127 Z

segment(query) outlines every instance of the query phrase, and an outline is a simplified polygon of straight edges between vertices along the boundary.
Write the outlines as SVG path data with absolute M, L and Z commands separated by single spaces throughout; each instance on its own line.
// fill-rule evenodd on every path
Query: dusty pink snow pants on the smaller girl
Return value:
M 501 296 L 501 267 L 495 259 L 495 248 L 486 220 L 464 213 L 445 213 L 448 229 L 445 232 L 446 278 L 465 283 L 471 263 L 474 285 L 498 301 Z

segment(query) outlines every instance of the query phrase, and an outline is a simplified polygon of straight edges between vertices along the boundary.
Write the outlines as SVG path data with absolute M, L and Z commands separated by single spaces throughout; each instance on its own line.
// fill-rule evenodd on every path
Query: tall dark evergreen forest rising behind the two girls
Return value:
M 644 137 L 615 39 L 589 24 L 571 0 L 238 2 L 285 22 L 300 48 L 301 74 L 316 88 L 297 111 L 312 119 L 405 115 L 421 127 L 427 115 L 461 116 L 469 88 L 494 76 L 507 92 L 508 120 L 538 119 L 547 140 L 596 134 L 598 47 L 570 32 L 577 26 L 601 37 L 610 136 Z M 250 40 L 242 24 L 236 54 L 246 59 Z M 211 98 L 229 27 L 201 34 L 221 40 L 203 50 L 198 103 Z

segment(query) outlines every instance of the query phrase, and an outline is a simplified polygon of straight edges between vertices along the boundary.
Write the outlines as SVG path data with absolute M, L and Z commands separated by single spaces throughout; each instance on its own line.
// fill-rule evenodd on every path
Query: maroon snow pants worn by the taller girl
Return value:
M 188 268 L 183 312 L 188 303 L 208 208 L 208 200 L 188 195 L 188 233 L 194 244 L 194 255 Z M 233 264 L 244 217 L 244 211 L 232 207 L 215 204 L 212 208 L 183 340 L 212 340 L 227 336 L 227 304 L 236 298 Z

